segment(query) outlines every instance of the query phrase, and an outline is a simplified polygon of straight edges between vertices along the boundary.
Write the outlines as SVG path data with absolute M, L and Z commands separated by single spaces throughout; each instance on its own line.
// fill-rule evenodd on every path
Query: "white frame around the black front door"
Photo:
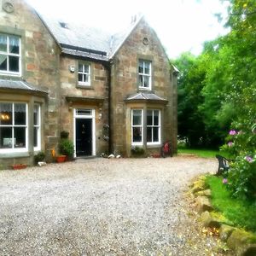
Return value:
M 79 110 L 84 113 L 79 113 Z M 87 113 L 86 113 L 87 112 Z M 76 119 L 92 119 L 92 155 L 96 155 L 96 111 L 92 108 L 74 108 L 73 109 L 73 144 L 74 157 L 77 157 L 76 152 Z

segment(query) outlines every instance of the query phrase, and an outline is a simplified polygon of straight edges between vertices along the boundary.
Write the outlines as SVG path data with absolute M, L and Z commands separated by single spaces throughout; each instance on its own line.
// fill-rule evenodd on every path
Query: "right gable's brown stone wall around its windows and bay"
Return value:
M 148 39 L 147 44 L 143 44 L 144 38 Z M 137 24 L 137 27 L 125 40 L 125 44 L 122 45 L 113 57 L 111 77 L 113 150 L 124 155 L 130 154 L 131 117 L 127 113 L 131 112 L 133 107 L 127 106 L 124 99 L 138 91 L 137 67 L 139 59 L 152 61 L 151 92 L 168 100 L 167 105 L 162 106 L 162 142 L 172 140 L 173 149 L 176 151 L 177 79 L 172 77 L 172 67 L 170 67 L 168 57 L 160 44 L 160 40 L 145 20 L 141 20 Z M 155 147 L 155 152 L 159 151 L 160 146 Z

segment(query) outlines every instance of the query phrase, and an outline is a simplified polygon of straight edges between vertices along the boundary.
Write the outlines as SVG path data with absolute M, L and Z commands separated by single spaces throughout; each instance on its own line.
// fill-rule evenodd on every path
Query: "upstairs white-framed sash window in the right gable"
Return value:
M 139 60 L 139 89 L 151 90 L 151 61 Z

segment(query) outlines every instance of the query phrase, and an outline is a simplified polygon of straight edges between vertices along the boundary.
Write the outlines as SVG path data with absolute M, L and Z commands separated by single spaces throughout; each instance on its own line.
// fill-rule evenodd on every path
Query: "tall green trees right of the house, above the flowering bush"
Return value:
M 255 122 L 256 2 L 230 0 L 230 32 L 207 42 L 201 55 L 181 55 L 178 85 L 178 133 L 189 144 L 224 143 L 232 122 Z

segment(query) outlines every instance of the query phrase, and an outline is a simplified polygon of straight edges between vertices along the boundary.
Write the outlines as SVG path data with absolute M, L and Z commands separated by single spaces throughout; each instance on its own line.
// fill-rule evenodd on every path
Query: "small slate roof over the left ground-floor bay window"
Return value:
M 47 90 L 44 90 L 34 84 L 27 83 L 26 81 L 20 80 L 6 80 L 0 79 L 0 89 L 11 89 L 11 90 L 24 90 L 31 92 L 39 92 L 47 94 Z

